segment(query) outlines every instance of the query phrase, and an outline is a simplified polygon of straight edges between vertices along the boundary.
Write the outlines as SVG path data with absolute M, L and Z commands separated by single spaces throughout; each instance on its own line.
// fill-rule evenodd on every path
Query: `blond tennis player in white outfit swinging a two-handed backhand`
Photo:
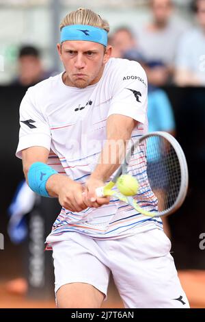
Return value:
M 146 73 L 109 59 L 109 24 L 92 10 L 70 12 L 60 29 L 65 70 L 27 90 L 16 151 L 30 188 L 62 206 L 46 238 L 57 306 L 100 308 L 111 271 L 126 308 L 188 308 L 161 219 L 95 194 L 126 141 L 148 130 Z M 141 200 L 156 203 L 150 191 Z

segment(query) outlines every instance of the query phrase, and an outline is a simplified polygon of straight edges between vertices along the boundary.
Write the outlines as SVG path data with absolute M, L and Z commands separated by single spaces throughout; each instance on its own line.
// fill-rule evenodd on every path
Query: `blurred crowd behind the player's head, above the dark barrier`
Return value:
M 27 86 L 60 72 L 55 52 L 59 21 L 86 4 L 90 8 L 87 1 L 74 1 L 72 8 L 73 1 L 1 0 L 0 84 L 14 80 Z M 111 25 L 113 57 L 139 61 L 150 84 L 205 85 L 204 0 L 98 0 L 92 9 Z M 15 28 L 6 23 L 9 15 Z

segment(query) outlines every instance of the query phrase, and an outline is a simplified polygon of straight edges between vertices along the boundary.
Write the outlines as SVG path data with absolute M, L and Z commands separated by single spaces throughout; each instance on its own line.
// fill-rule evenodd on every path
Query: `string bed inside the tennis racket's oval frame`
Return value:
M 163 212 L 171 208 L 180 190 L 178 156 L 163 137 L 150 136 L 132 151 L 127 171 L 139 183 L 134 199 L 139 206 Z

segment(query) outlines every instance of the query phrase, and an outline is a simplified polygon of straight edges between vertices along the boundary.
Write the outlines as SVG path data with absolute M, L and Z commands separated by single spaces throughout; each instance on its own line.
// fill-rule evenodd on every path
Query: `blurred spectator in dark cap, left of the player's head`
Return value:
M 36 47 L 20 48 L 18 66 L 18 77 L 14 79 L 12 85 L 33 86 L 51 75 L 51 72 L 44 71 L 40 51 Z

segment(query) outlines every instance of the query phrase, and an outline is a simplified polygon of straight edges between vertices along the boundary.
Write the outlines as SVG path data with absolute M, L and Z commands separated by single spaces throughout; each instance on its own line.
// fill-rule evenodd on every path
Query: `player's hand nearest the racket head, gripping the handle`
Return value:
M 105 182 L 92 176 L 87 179 L 85 190 L 83 192 L 83 202 L 87 207 L 98 208 L 109 203 L 109 197 L 96 197 L 96 188 L 100 186 L 105 186 Z

